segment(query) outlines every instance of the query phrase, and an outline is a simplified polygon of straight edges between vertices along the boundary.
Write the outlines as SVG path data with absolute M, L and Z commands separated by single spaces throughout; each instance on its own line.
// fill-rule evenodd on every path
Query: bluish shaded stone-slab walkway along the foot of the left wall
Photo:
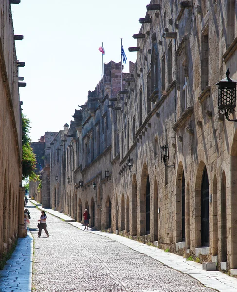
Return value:
M 0 270 L 0 291 L 31 292 L 33 263 L 33 237 L 18 238 L 18 243 L 11 258 L 3 270 Z

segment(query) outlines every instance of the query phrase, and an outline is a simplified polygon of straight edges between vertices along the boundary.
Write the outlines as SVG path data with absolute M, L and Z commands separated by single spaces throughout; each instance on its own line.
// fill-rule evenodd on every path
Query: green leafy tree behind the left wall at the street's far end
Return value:
M 35 178 L 36 157 L 30 146 L 30 120 L 22 114 L 22 179 Z

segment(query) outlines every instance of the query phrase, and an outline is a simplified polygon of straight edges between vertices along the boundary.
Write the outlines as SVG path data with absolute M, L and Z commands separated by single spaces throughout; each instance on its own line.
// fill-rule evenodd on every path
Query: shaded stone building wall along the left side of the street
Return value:
M 0 260 L 25 237 L 22 187 L 22 121 L 11 2 L 0 1 Z

